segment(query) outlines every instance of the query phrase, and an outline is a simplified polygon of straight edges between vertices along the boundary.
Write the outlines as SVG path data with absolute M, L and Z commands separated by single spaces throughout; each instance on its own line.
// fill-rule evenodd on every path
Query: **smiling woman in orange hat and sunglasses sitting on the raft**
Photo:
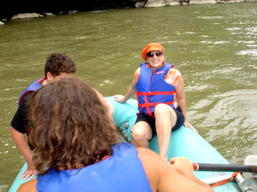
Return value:
M 183 124 L 196 129 L 186 120 L 186 96 L 181 73 L 164 61 L 164 48 L 150 43 L 142 51 L 145 63 L 134 73 L 134 79 L 125 96 L 115 95 L 118 102 L 126 102 L 134 94 L 138 100 L 138 118 L 132 130 L 136 147 L 148 148 L 154 135 L 158 137 L 160 156 L 168 161 L 167 150 L 171 131 Z M 175 98 L 178 100 L 176 105 Z M 197 131 L 196 131 L 197 132 Z

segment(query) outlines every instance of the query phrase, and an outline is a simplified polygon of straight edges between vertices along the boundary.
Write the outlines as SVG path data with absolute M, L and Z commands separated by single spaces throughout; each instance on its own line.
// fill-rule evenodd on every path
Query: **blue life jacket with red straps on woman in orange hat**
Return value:
M 154 108 L 160 103 L 167 104 L 175 109 L 173 103 L 175 86 L 165 81 L 165 74 L 173 65 L 164 62 L 164 66 L 152 72 L 149 64 L 140 64 L 140 76 L 136 83 L 136 96 L 139 113 L 154 117 Z M 138 113 L 138 114 L 139 114 Z

